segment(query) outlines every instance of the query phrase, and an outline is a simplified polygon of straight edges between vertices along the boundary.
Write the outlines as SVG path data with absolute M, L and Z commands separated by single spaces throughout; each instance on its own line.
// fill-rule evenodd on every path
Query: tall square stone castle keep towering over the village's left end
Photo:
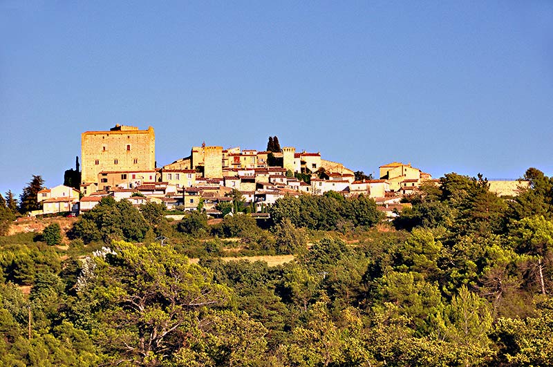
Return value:
M 109 131 L 81 135 L 81 184 L 96 183 L 101 171 L 146 171 L 156 168 L 153 127 L 115 125 Z

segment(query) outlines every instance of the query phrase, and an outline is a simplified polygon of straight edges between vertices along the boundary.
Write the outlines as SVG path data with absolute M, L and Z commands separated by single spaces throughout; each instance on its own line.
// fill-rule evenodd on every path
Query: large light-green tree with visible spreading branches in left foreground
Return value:
M 85 267 L 79 303 L 91 312 L 88 327 L 112 364 L 171 363 L 187 334 L 208 322 L 203 310 L 229 299 L 212 272 L 158 243 L 114 242 Z

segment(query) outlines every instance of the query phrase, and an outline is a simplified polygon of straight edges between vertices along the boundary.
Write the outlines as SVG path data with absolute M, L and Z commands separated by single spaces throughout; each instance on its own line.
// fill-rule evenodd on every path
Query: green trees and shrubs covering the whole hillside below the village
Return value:
M 388 224 L 332 192 L 218 223 L 104 198 L 68 250 L 0 236 L 0 366 L 551 366 L 553 180 L 524 178 L 449 173 Z M 253 254 L 294 261 L 221 258 Z

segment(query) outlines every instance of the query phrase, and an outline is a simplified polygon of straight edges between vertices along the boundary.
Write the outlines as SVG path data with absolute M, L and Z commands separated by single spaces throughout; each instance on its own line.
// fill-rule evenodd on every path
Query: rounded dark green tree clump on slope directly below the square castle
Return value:
M 115 201 L 105 196 L 91 211 L 86 211 L 73 227 L 73 235 L 84 243 L 126 239 L 142 241 L 150 225 L 128 200 Z

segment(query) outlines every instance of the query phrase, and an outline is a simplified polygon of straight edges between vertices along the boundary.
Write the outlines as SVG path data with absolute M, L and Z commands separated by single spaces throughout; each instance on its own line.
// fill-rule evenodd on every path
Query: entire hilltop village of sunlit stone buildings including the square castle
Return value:
M 346 197 L 373 198 L 380 210 L 394 216 L 394 211 L 401 210 L 404 196 L 418 191 L 424 182 L 438 183 L 411 164 L 384 164 L 379 167 L 379 177 L 373 179 L 324 160 L 320 152 L 296 151 L 294 147 L 257 151 L 204 143 L 192 147 L 189 156 L 158 168 L 151 126 L 140 130 L 118 124 L 109 131 L 86 131 L 81 138 L 80 191 L 64 185 L 39 191 L 42 209 L 31 215 L 68 211 L 78 215 L 92 209 L 102 197 L 113 196 L 137 206 L 153 202 L 163 203 L 169 210 L 203 209 L 217 217 L 221 216 L 218 204 L 232 201 L 233 193 L 239 192 L 252 213 L 263 216 L 268 206 L 284 196 L 335 191 Z M 513 194 L 519 183 L 490 182 L 490 190 Z

